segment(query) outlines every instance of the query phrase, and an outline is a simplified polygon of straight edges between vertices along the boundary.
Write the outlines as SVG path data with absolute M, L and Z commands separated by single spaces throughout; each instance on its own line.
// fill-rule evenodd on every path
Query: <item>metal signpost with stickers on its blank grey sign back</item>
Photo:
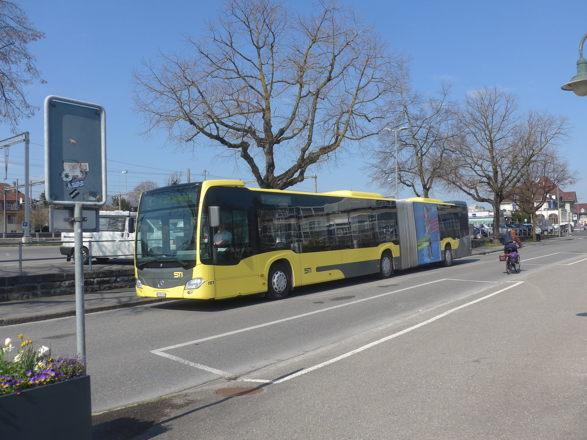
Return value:
M 106 111 L 59 96 L 45 98 L 45 198 L 73 207 L 77 353 L 86 357 L 83 304 L 83 207 L 106 203 Z

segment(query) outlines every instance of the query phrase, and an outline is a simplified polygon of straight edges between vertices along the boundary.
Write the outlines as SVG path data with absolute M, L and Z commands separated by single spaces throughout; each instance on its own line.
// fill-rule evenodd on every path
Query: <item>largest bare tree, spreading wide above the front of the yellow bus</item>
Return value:
M 193 56 L 143 62 L 134 102 L 146 134 L 164 129 L 188 148 L 212 141 L 261 188 L 288 188 L 308 167 L 359 151 L 386 125 L 406 61 L 352 9 L 319 0 L 313 11 L 228 0 L 204 38 L 184 36 Z

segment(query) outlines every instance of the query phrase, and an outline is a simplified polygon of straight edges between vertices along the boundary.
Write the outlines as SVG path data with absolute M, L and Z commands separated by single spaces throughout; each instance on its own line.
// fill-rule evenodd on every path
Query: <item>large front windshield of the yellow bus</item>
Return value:
M 137 266 L 151 262 L 195 265 L 199 185 L 161 188 L 141 195 L 136 228 Z

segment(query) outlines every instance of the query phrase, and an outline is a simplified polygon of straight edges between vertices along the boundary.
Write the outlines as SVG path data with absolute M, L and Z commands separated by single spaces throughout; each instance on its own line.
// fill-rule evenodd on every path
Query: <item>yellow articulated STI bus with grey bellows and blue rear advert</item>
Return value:
M 467 205 L 209 180 L 141 195 L 137 295 L 281 299 L 294 287 L 471 255 Z

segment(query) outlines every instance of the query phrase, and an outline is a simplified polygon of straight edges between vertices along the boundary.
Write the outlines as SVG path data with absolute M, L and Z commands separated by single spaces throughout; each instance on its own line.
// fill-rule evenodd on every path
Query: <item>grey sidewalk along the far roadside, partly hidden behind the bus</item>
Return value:
M 541 242 L 525 242 L 524 246 L 544 245 L 559 240 L 570 240 L 573 236 L 549 238 Z M 502 252 L 503 246 L 480 246 L 473 248 L 471 255 Z M 165 298 L 141 298 L 136 296 L 134 289 L 104 290 L 84 294 L 86 313 L 103 312 L 104 310 L 122 309 L 139 304 L 171 301 Z M 42 321 L 66 316 L 75 316 L 75 295 L 47 296 L 42 298 L 8 301 L 0 303 L 0 327 Z

